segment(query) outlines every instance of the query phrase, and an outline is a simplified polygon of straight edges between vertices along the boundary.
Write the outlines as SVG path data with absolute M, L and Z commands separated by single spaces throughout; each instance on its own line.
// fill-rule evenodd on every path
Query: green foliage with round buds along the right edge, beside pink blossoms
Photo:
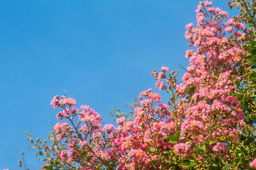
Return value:
M 241 45 L 246 52 L 246 59 L 238 66 L 240 71 L 237 74 L 241 80 L 236 81 L 235 94 L 241 101 L 246 124 L 241 129 L 241 147 L 234 148 L 239 167 L 246 169 L 250 161 L 256 157 L 256 1 L 236 0 L 229 2 L 228 5 L 230 8 L 239 9 L 240 13 L 234 16 L 234 20 L 248 25 L 246 43 Z

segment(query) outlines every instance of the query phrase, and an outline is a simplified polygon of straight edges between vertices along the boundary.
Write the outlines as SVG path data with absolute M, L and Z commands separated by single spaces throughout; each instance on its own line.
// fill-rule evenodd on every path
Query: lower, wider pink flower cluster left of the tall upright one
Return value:
M 60 158 L 63 162 L 83 162 L 79 160 L 83 152 L 88 152 L 93 159 L 90 164 L 97 164 L 110 159 L 118 159 L 119 169 L 135 169 L 135 165 L 141 164 L 141 168 L 152 168 L 152 159 L 160 159 L 154 152 L 147 152 L 150 148 L 156 148 L 157 152 L 168 151 L 173 143 L 164 142 L 168 136 L 175 134 L 177 125 L 171 118 L 172 113 L 166 104 L 161 104 L 161 97 L 151 89 L 140 94 L 141 107 L 136 108 L 134 121 L 125 122 L 125 118 L 118 118 L 119 124 L 115 128 L 111 124 L 101 127 L 100 115 L 89 106 L 81 106 L 79 115 L 80 126 L 73 129 L 66 122 L 59 122 L 54 126 L 54 131 L 59 140 L 66 138 L 68 150 L 62 150 Z M 54 97 L 54 103 L 59 103 Z M 154 107 L 158 103 L 158 106 Z M 160 103 L 160 104 L 159 104 Z M 70 105 L 60 105 L 65 110 L 70 110 Z M 75 115 L 74 115 L 75 116 Z M 72 122 L 72 117 L 65 117 Z M 72 122 L 72 124 L 74 124 Z M 72 136 L 77 136 L 77 139 Z M 91 136 L 90 138 L 87 138 Z M 67 140 L 68 139 L 68 140 Z M 77 145 L 79 144 L 79 145 Z M 177 152 L 179 153 L 179 152 Z M 148 156 L 150 154 L 150 156 Z M 181 154 L 181 152 L 180 152 Z M 182 153 L 183 154 L 183 153 Z M 141 163 L 143 162 L 143 164 Z M 106 163 L 106 162 L 105 162 Z M 159 163 L 156 163 L 159 164 Z M 89 166 L 84 166 L 88 168 Z M 90 168 L 92 168 L 90 166 Z

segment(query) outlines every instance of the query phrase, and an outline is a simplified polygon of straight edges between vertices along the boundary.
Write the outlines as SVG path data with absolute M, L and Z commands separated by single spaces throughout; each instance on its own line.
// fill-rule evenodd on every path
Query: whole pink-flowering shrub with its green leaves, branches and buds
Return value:
M 55 96 L 61 108 L 51 146 L 37 140 L 35 148 L 51 168 L 69 169 L 245 169 L 256 166 L 255 82 L 246 27 L 213 8 L 209 1 L 196 9 L 196 27 L 186 25 L 190 65 L 177 73 L 161 67 L 156 87 L 170 94 L 168 104 L 152 89 L 140 94 L 134 119 L 116 119 L 118 127 L 102 125 L 90 106 L 75 108 L 76 100 Z M 250 60 L 251 59 L 251 60 Z M 250 61 L 252 61 L 250 63 Z M 246 70 L 250 70 L 247 73 Z M 246 77 L 250 74 L 250 78 Z M 248 101 L 250 99 L 250 101 Z M 246 101 L 247 100 L 247 101 Z M 250 105 L 250 106 L 249 106 Z M 254 109 L 255 110 L 255 109 Z M 31 136 L 29 139 L 33 142 Z M 254 159 L 254 160 L 253 160 Z

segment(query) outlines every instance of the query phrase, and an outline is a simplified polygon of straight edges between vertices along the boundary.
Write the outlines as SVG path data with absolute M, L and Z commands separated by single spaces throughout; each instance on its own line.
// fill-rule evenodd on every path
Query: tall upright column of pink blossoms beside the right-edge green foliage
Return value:
M 196 50 L 187 50 L 188 72 L 176 89 L 180 97 L 190 96 L 186 110 L 178 109 L 178 113 L 185 116 L 179 119 L 181 132 L 178 144 L 194 143 L 192 152 L 203 150 L 203 145 L 207 146 L 203 153 L 207 150 L 224 155 L 232 143 L 239 143 L 239 129 L 244 124 L 243 110 L 234 97 L 236 87 L 232 77 L 238 73 L 237 63 L 246 56 L 239 46 L 245 36 L 245 27 L 228 19 L 227 12 L 211 5 L 209 1 L 200 2 L 196 10 L 197 27 L 192 23 L 186 25 L 185 37 L 190 46 L 196 46 Z M 222 23 L 225 19 L 227 22 Z M 228 39 L 225 34 L 236 39 Z M 161 79 L 162 74 L 156 83 L 160 90 L 163 87 Z M 208 144 L 220 138 L 227 140 L 225 145 L 221 142 Z

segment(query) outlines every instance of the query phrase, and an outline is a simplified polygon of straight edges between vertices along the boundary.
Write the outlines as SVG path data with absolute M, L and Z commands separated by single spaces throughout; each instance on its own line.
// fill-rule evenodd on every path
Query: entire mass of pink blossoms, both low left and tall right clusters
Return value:
M 166 89 L 167 85 L 159 80 L 168 81 L 168 89 L 174 88 L 172 91 L 177 93 L 179 101 L 173 101 L 176 99 L 173 96 L 170 98 L 173 103 L 166 105 L 161 103 L 158 93 L 152 89 L 145 90 L 140 93 L 141 106 L 134 109 L 134 120 L 118 118 L 118 127 L 115 128 L 112 124 L 101 127 L 102 118 L 90 106 L 81 106 L 79 113 L 78 109 L 72 108 L 76 100 L 67 97 L 60 100 L 58 96 L 52 99 L 54 108 L 63 108 L 57 118 L 68 118 L 72 122 L 74 116 L 79 115 L 80 120 L 75 124 L 77 127 L 72 122 L 76 131 L 72 131 L 67 123 L 59 122 L 54 126 L 57 138 L 66 138 L 65 143 L 69 141 L 68 151 L 60 153 L 61 160 L 79 164 L 79 159 L 81 162 L 86 159 L 83 157 L 83 152 L 86 152 L 86 157 L 90 157 L 87 163 L 90 164 L 79 164 L 83 169 L 97 169 L 100 159 L 116 159 L 118 169 L 154 169 L 156 166 L 165 169 L 161 161 L 152 164 L 152 160 L 161 159 L 160 152 L 170 153 L 173 150 L 175 156 L 189 156 L 196 161 L 207 162 L 204 154 L 195 158 L 189 154 L 195 155 L 193 152 L 200 151 L 198 149 L 206 141 L 214 141 L 207 148 L 215 152 L 212 158 L 221 157 L 223 162 L 228 162 L 232 157 L 228 150 L 232 145 L 239 145 L 242 133 L 239 129 L 244 124 L 243 109 L 233 94 L 236 90 L 234 78 L 239 72 L 239 67 L 234 66 L 245 59 L 246 53 L 232 41 L 243 43 L 245 34 L 241 30 L 243 24 L 232 19 L 223 23 L 228 18 L 227 12 L 211 5 L 209 1 L 200 2 L 196 10 L 197 25 L 186 25 L 189 46 L 196 49 L 186 52 L 190 64 L 182 77 L 183 82 L 176 85 L 173 77 L 166 78 L 168 67 L 161 67 L 158 73 L 156 87 Z M 234 39 L 228 39 L 227 32 L 234 33 Z M 174 85 L 170 81 L 175 81 Z M 177 133 L 176 142 L 170 143 L 168 137 L 174 138 Z M 172 158 L 168 160 L 171 161 Z M 256 167 L 256 159 L 250 166 Z

